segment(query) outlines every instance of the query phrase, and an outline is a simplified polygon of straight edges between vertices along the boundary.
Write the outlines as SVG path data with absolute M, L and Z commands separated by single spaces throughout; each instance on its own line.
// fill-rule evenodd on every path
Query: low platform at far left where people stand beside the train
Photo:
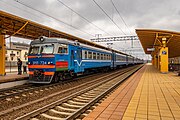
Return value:
M 7 73 L 5 76 L 0 76 L 0 84 L 24 79 L 28 79 L 28 74 L 17 75 L 15 72 Z

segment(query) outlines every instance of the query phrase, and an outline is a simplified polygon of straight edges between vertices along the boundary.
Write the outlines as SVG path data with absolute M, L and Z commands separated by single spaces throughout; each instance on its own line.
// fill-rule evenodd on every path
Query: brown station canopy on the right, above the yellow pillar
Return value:
M 180 32 L 156 29 L 136 29 L 136 33 L 146 54 L 153 55 L 148 49 L 161 47 L 162 38 L 167 38 L 169 58 L 180 56 Z

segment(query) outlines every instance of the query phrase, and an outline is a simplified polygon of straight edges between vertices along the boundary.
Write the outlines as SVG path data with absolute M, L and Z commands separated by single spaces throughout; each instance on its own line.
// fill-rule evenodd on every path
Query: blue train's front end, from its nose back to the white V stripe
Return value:
M 32 42 L 28 56 L 29 81 L 47 84 L 83 72 L 81 54 L 80 46 L 65 39 Z

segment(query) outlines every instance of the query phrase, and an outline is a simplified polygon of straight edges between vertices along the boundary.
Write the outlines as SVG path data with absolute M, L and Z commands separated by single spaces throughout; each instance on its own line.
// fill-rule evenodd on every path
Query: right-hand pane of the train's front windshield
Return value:
M 40 54 L 52 54 L 54 52 L 54 45 L 44 45 L 41 46 Z

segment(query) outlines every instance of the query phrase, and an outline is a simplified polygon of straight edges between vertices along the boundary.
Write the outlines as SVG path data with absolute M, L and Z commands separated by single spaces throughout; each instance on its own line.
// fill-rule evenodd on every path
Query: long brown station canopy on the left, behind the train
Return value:
M 94 42 L 67 34 L 65 32 L 61 32 L 59 30 L 55 30 L 53 28 L 41 25 L 39 23 L 0 10 L 0 34 L 2 33 L 9 35 L 9 37 L 15 36 L 31 40 L 38 39 L 40 36 L 65 38 L 72 41 L 78 41 L 80 43 L 87 44 L 90 46 L 95 46 L 106 50 L 112 50 L 116 51 L 117 53 L 127 55 L 120 51 L 107 48 Z

